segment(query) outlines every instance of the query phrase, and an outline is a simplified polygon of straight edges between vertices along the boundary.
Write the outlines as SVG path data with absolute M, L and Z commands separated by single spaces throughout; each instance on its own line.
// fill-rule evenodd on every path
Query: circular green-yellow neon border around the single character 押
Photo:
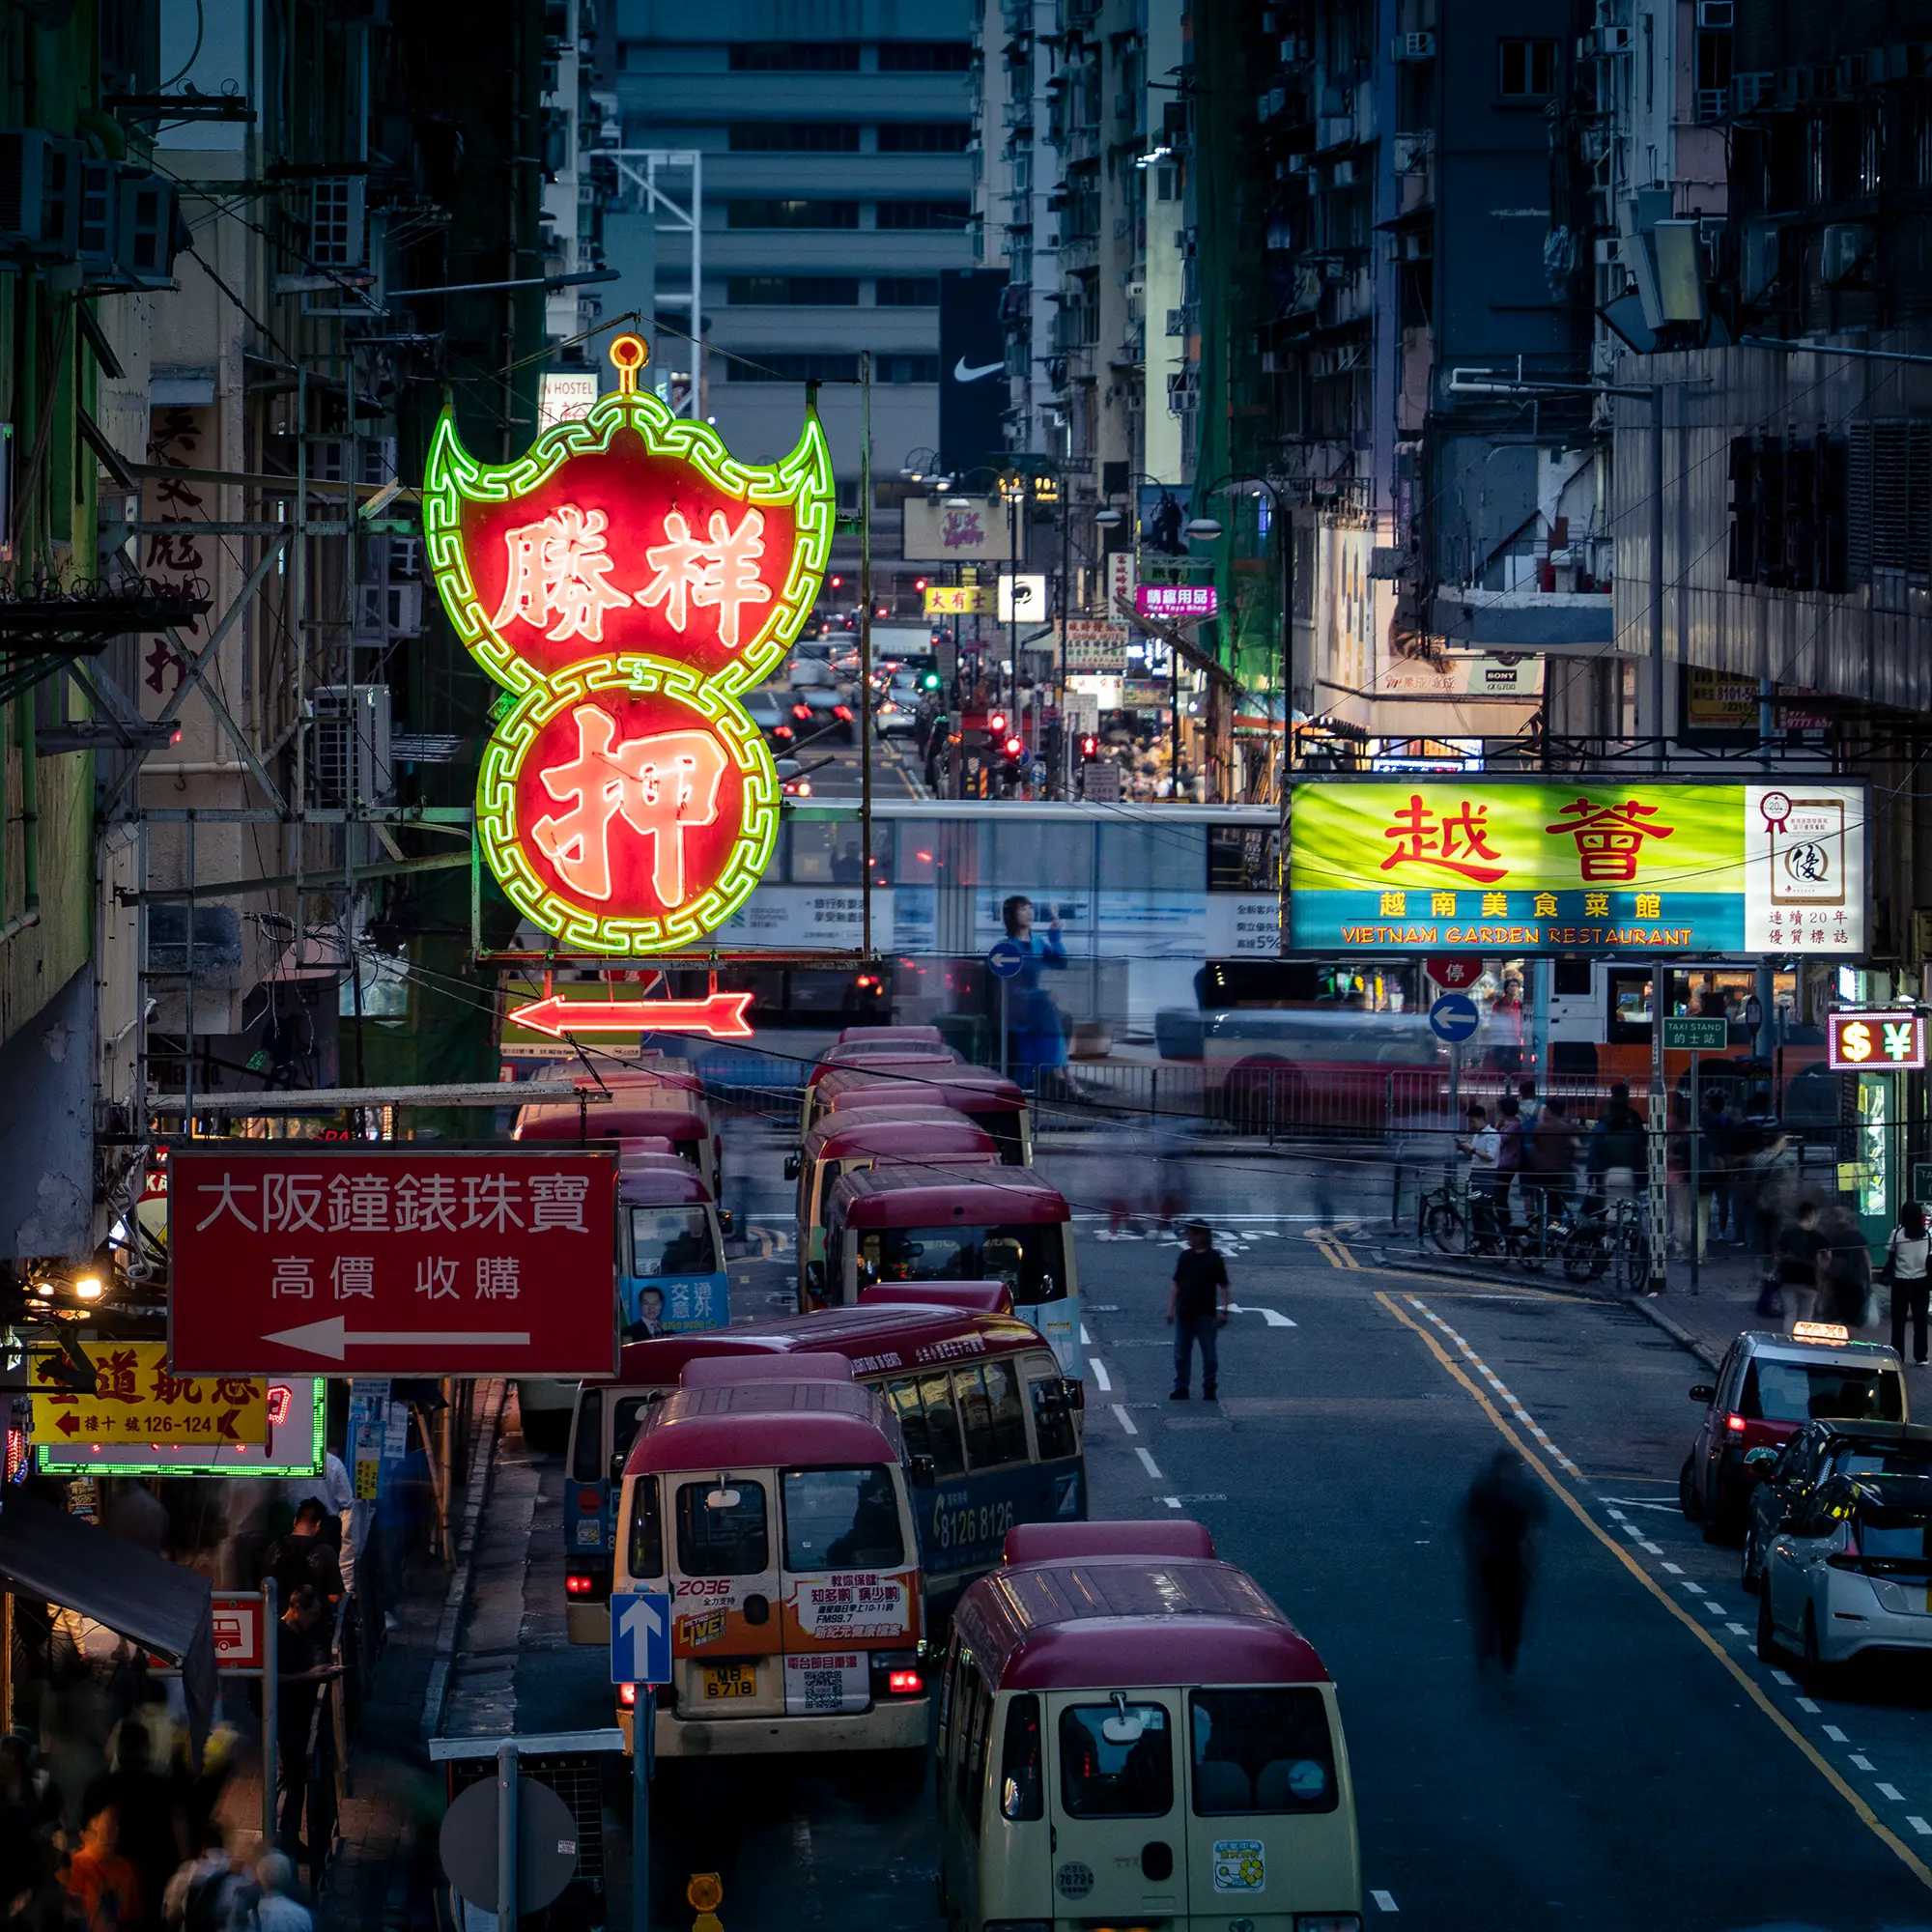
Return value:
M 477 773 L 477 838 L 504 896 L 543 931 L 605 958 L 641 958 L 696 945 L 752 896 L 779 838 L 779 773 L 763 732 L 732 692 L 719 690 L 721 684 L 721 676 L 701 678 L 690 665 L 624 653 L 572 665 L 547 684 L 539 682 L 497 724 Z M 663 694 L 684 701 L 713 724 L 744 775 L 744 815 L 724 871 L 711 891 L 661 920 L 587 912 L 537 877 L 518 838 L 516 781 L 537 732 L 597 692 Z

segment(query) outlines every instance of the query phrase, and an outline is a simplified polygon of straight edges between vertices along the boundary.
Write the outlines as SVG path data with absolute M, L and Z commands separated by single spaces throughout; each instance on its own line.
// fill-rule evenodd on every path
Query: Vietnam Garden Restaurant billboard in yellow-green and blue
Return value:
M 1291 786 L 1291 952 L 1857 958 L 1859 782 L 1323 779 Z

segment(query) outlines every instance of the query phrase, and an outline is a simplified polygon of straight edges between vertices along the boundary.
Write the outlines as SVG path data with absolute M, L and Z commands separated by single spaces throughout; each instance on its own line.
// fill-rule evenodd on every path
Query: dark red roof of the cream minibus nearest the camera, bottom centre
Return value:
M 952 1623 L 997 1690 L 1327 1681 L 1246 1571 L 1202 1557 L 1010 1565 L 981 1577 Z

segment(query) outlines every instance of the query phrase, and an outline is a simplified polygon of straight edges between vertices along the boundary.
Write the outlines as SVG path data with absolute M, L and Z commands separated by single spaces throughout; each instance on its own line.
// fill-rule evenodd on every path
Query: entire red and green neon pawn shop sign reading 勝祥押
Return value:
M 779 775 L 744 709 L 811 612 L 833 539 L 825 433 L 742 464 L 707 423 L 618 390 L 514 464 L 448 408 L 423 477 L 442 605 L 514 703 L 483 750 L 477 838 L 543 931 L 605 958 L 723 925 L 779 833 Z

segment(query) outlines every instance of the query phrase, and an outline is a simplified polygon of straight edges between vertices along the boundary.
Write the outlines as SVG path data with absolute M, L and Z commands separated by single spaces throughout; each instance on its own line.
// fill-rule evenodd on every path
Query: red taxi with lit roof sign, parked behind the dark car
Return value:
M 1905 1422 L 1905 1374 L 1891 1349 L 1853 1341 L 1833 1321 L 1797 1321 L 1789 1335 L 1745 1329 L 1725 1350 L 1716 1381 L 1690 1385 L 1704 1405 L 1677 1476 L 1677 1503 L 1704 1524 L 1706 1542 L 1735 1536 L 1756 1482 L 1745 1459 L 1783 1449 L 1810 1420 Z

